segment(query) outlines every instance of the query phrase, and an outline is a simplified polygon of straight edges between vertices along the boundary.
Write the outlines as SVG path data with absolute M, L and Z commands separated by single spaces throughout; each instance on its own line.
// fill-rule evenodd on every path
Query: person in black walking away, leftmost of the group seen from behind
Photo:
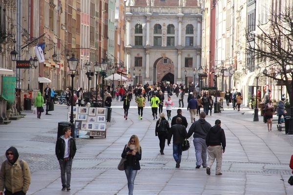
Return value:
M 167 138 L 167 133 L 169 132 L 170 126 L 169 122 L 165 118 L 165 114 L 161 113 L 159 120 L 157 120 L 155 128 L 155 136 L 158 136 L 160 140 L 160 153 L 164 155 L 165 141 Z

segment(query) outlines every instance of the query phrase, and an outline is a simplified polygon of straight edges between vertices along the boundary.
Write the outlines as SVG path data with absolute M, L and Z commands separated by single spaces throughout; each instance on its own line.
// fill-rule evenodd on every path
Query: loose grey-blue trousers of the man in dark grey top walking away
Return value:
M 196 166 L 207 166 L 207 144 L 206 139 L 195 137 L 193 145 L 196 157 Z

